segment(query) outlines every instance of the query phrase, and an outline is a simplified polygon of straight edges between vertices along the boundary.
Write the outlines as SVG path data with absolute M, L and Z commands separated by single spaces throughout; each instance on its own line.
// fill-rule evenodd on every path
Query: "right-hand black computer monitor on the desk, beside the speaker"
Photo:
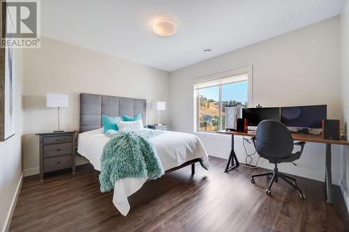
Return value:
M 281 107 L 281 123 L 287 127 L 321 128 L 327 119 L 327 105 Z

